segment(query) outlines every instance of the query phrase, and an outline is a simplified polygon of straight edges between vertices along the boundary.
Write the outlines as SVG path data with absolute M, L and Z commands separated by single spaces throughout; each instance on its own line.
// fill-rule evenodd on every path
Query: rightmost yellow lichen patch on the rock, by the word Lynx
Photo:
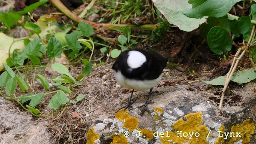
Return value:
M 231 127 L 230 132 L 241 132 L 241 137 L 230 137 L 228 144 L 234 144 L 234 142 L 238 142 L 240 139 L 243 140 L 242 144 L 248 144 L 250 142 L 250 136 L 254 133 L 255 126 L 253 123 L 250 123 L 250 119 L 244 120 L 244 122 L 240 124 L 236 124 Z

